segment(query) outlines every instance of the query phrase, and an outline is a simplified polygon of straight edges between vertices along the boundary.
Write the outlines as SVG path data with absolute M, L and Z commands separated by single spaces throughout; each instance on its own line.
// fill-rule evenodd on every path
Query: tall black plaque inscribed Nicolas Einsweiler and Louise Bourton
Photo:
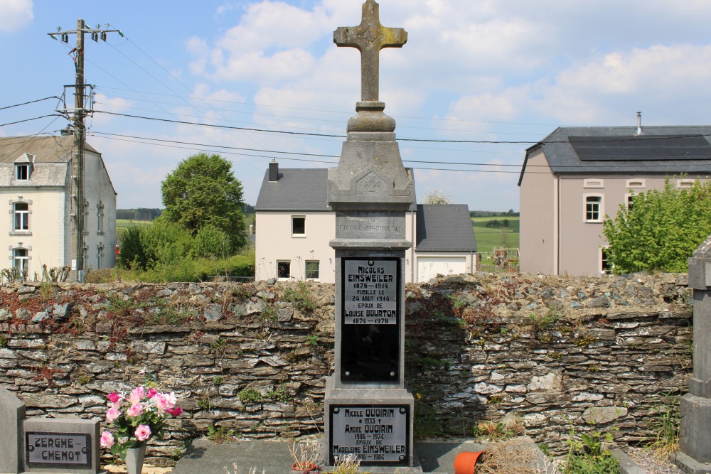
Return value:
M 400 260 L 342 259 L 342 382 L 400 377 Z

